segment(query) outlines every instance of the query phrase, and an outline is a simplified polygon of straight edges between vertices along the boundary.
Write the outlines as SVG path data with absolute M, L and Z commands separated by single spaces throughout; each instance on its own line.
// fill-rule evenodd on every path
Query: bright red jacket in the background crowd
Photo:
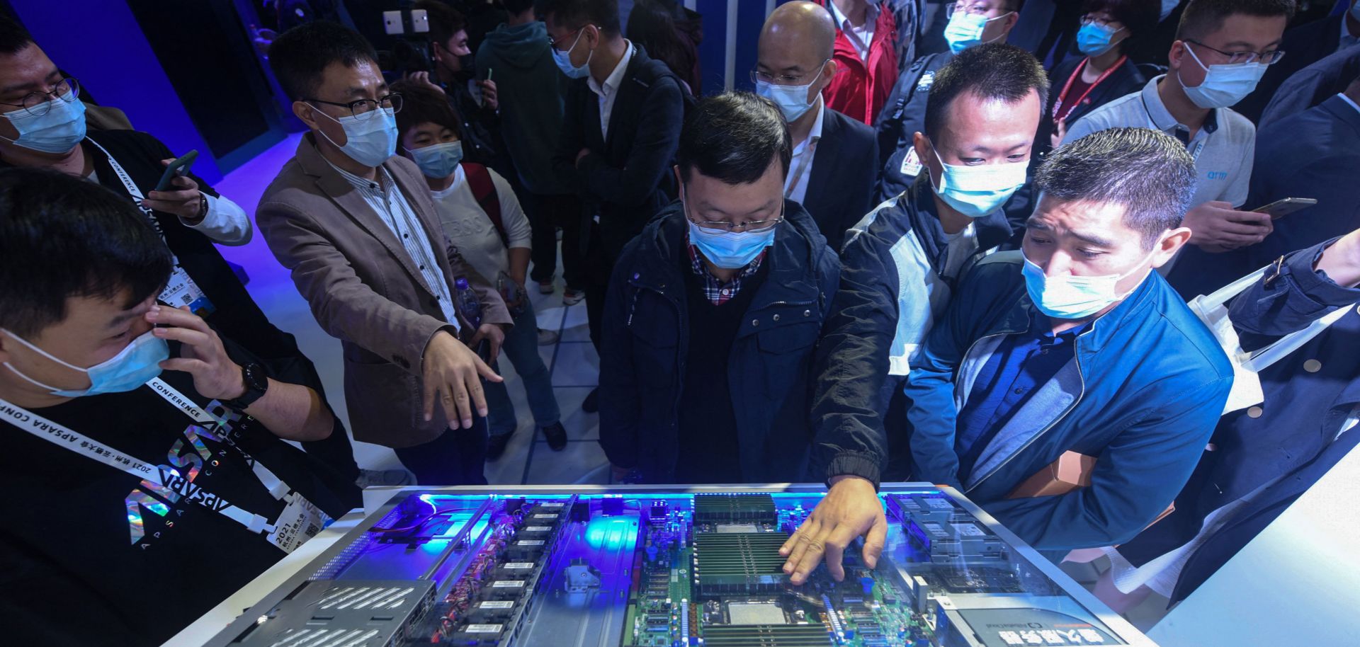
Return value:
M 831 11 L 831 0 L 819 3 Z M 883 110 L 883 105 L 888 102 L 892 84 L 898 80 L 898 20 L 889 7 L 883 3 L 874 4 L 879 8 L 879 22 L 873 26 L 869 60 L 860 58 L 860 52 L 840 31 L 840 24 L 836 24 L 836 43 L 831 54 L 836 61 L 836 76 L 821 91 L 827 107 L 870 126 Z

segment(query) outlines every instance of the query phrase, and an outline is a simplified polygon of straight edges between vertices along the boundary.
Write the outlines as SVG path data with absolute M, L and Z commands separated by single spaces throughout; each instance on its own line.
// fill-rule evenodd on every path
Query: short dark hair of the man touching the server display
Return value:
M 936 72 L 926 98 L 925 133 L 930 141 L 936 140 L 949 106 L 960 95 L 1019 103 L 1031 90 L 1039 92 L 1040 106 L 1047 105 L 1049 75 L 1034 54 L 1002 42 L 968 48 Z

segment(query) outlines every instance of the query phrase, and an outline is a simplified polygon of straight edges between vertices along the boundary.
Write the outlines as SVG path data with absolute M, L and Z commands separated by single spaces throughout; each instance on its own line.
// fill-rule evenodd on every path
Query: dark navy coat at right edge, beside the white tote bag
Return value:
M 1180 571 L 1171 601 L 1178 602 L 1232 559 L 1265 530 L 1304 491 L 1348 451 L 1360 444 L 1360 430 L 1333 442 L 1341 421 L 1360 404 L 1360 314 L 1355 303 L 1360 290 L 1346 290 L 1312 269 L 1322 250 L 1334 241 L 1289 254 L 1278 270 L 1232 302 L 1229 315 L 1242 345 L 1255 349 L 1299 330 L 1337 307 L 1350 307 L 1322 334 L 1261 371 L 1265 402 L 1259 417 L 1247 410 L 1229 413 L 1213 434 L 1214 451 L 1206 451 L 1185 489 L 1176 510 L 1133 541 L 1119 555 L 1134 565 L 1198 534 L 1209 512 L 1243 495 L 1278 481 L 1236 511 L 1227 526 L 1200 546 Z M 1316 371 L 1304 364 L 1318 362 Z

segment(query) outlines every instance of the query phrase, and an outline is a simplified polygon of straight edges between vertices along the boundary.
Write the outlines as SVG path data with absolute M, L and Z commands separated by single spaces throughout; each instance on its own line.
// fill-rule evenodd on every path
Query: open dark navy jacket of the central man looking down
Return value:
M 647 224 L 615 265 L 600 345 L 600 444 L 609 462 L 638 468 L 649 483 L 673 480 L 684 435 L 676 410 L 690 343 L 680 204 Z M 840 261 L 808 212 L 786 200 L 785 223 L 764 262 L 768 275 L 728 363 L 741 476 L 745 483 L 801 481 L 812 447 L 812 353 Z

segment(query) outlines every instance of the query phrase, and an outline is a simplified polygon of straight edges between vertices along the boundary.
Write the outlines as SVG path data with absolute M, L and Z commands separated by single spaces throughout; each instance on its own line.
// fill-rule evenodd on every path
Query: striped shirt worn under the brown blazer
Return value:
M 329 160 L 326 162 L 329 163 Z M 345 178 L 347 182 L 358 189 L 359 194 L 363 196 L 363 201 L 369 203 L 374 213 L 382 219 L 382 223 L 392 230 L 392 234 L 401 241 L 401 246 L 405 247 L 407 256 L 415 262 L 416 268 L 420 269 L 420 276 L 424 279 L 424 287 L 434 295 L 435 300 L 439 303 L 439 311 L 443 313 L 443 319 L 449 322 L 454 329 L 460 329 L 458 317 L 454 313 L 453 295 L 449 291 L 449 281 L 443 279 L 439 272 L 439 261 L 435 254 L 435 246 L 431 245 L 430 238 L 426 235 L 424 227 L 420 226 L 420 219 L 416 217 L 415 209 L 411 208 L 411 203 L 397 188 L 396 181 L 388 174 L 388 170 L 378 167 L 377 181 L 360 178 L 339 166 L 330 164 L 335 170 L 340 171 L 340 175 Z

